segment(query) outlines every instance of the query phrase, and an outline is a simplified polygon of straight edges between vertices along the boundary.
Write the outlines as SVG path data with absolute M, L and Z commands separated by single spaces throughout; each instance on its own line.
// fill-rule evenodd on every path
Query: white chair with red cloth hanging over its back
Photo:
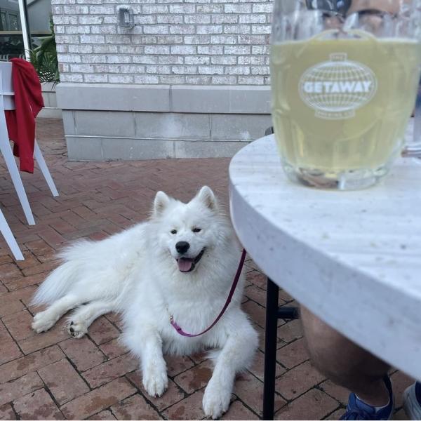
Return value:
M 15 109 L 14 101 L 14 92 L 12 84 L 12 63 L 11 62 L 0 62 L 0 152 L 4 156 L 4 161 L 8 172 L 11 175 L 13 185 L 15 186 L 16 193 L 18 194 L 20 204 L 22 205 L 23 212 L 29 225 L 35 225 L 34 215 L 32 215 L 31 206 L 29 206 L 29 201 L 27 194 L 22 184 L 22 179 L 20 178 L 20 173 L 18 171 L 18 166 L 16 165 L 15 158 L 13 156 L 13 151 L 11 148 L 11 143 L 8 138 L 8 131 L 6 126 L 6 116 L 4 114 L 5 110 Z M 58 196 L 58 191 L 55 188 L 53 178 L 51 178 L 50 171 L 46 166 L 46 161 L 44 161 L 44 156 L 39 149 L 38 143 L 34 140 L 34 158 L 38 163 L 39 169 L 41 170 L 42 175 L 46 179 L 47 185 L 51 190 L 53 196 Z

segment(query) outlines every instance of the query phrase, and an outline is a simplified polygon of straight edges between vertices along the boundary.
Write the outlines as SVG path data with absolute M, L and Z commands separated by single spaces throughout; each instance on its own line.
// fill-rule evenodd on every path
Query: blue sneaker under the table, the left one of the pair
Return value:
M 367 403 L 361 401 L 354 393 L 349 395 L 347 410 L 341 420 L 391 420 L 394 410 L 394 399 L 392 392 L 392 383 L 389 377 L 384 379 L 389 392 L 389 403 L 381 409 L 375 409 Z

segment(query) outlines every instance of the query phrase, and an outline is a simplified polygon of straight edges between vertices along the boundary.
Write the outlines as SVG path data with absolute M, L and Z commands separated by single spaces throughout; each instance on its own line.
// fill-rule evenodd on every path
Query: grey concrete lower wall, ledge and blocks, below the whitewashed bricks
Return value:
M 267 86 L 60 83 L 69 159 L 233 156 L 271 125 Z

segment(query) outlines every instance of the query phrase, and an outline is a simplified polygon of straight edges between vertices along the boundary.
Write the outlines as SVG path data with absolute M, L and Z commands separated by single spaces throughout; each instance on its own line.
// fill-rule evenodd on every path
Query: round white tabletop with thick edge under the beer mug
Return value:
M 287 180 L 274 135 L 229 166 L 232 222 L 251 258 L 330 326 L 421 380 L 421 161 L 369 189 Z

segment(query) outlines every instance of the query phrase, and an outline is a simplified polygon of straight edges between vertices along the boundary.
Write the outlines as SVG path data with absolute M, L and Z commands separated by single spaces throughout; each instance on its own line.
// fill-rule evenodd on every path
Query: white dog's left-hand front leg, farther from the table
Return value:
M 161 396 L 168 387 L 166 362 L 162 354 L 162 339 L 152 326 L 143 327 L 125 338 L 131 350 L 140 356 L 142 383 L 150 396 Z

